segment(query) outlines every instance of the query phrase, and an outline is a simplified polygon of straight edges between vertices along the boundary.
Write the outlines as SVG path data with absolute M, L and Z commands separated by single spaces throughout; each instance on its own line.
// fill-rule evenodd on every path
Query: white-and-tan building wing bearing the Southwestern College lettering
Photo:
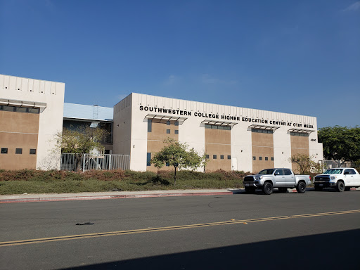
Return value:
M 156 170 L 149 160 L 167 137 L 207 154 L 206 171 L 293 167 L 296 153 L 323 160 L 316 117 L 133 93 L 114 106 L 113 121 L 113 153 L 131 155 L 136 171 Z

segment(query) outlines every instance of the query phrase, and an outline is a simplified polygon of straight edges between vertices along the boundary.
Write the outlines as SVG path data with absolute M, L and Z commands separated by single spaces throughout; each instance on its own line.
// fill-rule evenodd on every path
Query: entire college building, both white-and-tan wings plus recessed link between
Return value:
M 149 161 L 167 137 L 206 154 L 205 171 L 293 167 L 297 153 L 323 160 L 316 117 L 136 93 L 106 108 L 64 103 L 64 92 L 60 82 L 0 75 L 0 169 L 60 168 L 55 134 L 83 125 L 108 130 L 105 153 L 130 155 L 136 171 L 157 170 Z

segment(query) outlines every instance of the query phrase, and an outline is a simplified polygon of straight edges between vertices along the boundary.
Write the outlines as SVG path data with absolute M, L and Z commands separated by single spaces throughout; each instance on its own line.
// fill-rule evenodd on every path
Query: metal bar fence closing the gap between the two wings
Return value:
M 61 154 L 60 169 L 87 171 L 89 169 L 130 169 L 130 155 Z

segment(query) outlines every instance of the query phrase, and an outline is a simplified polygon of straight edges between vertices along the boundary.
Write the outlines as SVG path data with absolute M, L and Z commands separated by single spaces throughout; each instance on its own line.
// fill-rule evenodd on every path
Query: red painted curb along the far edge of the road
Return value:
M 108 200 L 108 199 L 131 199 L 131 198 L 156 198 L 172 196 L 206 196 L 206 195 L 232 195 L 231 191 L 226 192 L 191 192 L 191 193 L 160 193 L 160 194 L 134 194 L 134 195 L 103 195 L 103 196 L 77 196 L 57 198 L 27 198 L 27 199 L 6 199 L 0 203 L 34 203 L 34 202 L 56 202 L 62 200 Z

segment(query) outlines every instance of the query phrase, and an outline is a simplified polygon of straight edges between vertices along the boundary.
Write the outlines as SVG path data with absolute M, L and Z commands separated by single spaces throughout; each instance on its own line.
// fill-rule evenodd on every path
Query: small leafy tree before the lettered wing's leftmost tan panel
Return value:
M 174 186 L 176 185 L 176 169 L 191 168 L 193 170 L 198 167 L 206 165 L 206 158 L 204 155 L 199 155 L 194 148 L 187 150 L 186 143 L 179 143 L 174 139 L 167 138 L 164 140 L 167 144 L 160 152 L 155 153 L 154 157 L 150 160 L 155 167 L 161 168 L 165 164 L 174 167 Z

